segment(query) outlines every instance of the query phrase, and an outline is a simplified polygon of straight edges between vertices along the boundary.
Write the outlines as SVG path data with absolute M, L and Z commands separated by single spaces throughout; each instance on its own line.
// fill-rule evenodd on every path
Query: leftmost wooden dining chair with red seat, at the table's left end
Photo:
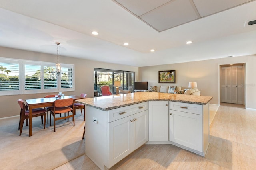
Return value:
M 29 119 L 29 110 L 26 110 L 25 103 L 22 99 L 18 99 L 18 104 L 20 105 L 20 122 L 19 122 L 18 129 L 20 130 L 20 135 L 21 135 L 24 120 Z M 43 116 L 44 116 L 44 129 L 45 129 L 46 109 L 42 109 L 42 108 L 32 109 L 32 117 L 38 117 L 38 116 L 41 116 L 42 124 L 43 124 Z

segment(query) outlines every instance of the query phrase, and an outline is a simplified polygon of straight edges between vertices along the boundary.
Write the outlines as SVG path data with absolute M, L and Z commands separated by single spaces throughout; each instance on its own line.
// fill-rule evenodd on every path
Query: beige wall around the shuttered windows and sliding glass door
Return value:
M 0 47 L 0 51 L 0 57 L 5 58 L 26 59 L 44 62 L 57 61 L 56 55 L 50 55 L 45 53 L 36 53 L 32 51 L 10 49 L 5 47 Z M 135 80 L 138 80 L 138 67 L 63 56 L 60 56 L 59 61 L 60 63 L 75 65 L 75 91 L 64 92 L 65 95 L 80 95 L 80 93 L 86 93 L 88 97 L 94 97 L 94 68 L 133 71 L 135 72 Z M 0 96 L 0 118 L 20 115 L 20 107 L 17 103 L 18 99 L 21 98 L 25 100 L 30 98 L 43 98 L 45 95 L 46 94 L 26 94 Z

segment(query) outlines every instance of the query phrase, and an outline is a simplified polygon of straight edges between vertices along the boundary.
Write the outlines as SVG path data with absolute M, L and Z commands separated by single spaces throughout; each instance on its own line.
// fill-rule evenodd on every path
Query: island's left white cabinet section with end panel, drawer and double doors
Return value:
M 85 153 L 100 169 L 111 168 L 148 141 L 148 102 L 109 111 L 86 106 L 85 113 Z

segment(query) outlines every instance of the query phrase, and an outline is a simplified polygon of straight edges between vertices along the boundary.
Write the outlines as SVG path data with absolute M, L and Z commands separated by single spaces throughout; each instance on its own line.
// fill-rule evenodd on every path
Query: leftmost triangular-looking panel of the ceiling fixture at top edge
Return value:
M 115 0 L 136 16 L 141 16 L 171 0 Z

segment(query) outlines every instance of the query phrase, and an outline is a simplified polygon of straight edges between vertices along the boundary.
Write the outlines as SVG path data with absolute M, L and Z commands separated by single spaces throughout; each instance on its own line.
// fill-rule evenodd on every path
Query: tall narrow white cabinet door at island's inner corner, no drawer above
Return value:
M 168 141 L 168 101 L 148 102 L 148 140 Z

